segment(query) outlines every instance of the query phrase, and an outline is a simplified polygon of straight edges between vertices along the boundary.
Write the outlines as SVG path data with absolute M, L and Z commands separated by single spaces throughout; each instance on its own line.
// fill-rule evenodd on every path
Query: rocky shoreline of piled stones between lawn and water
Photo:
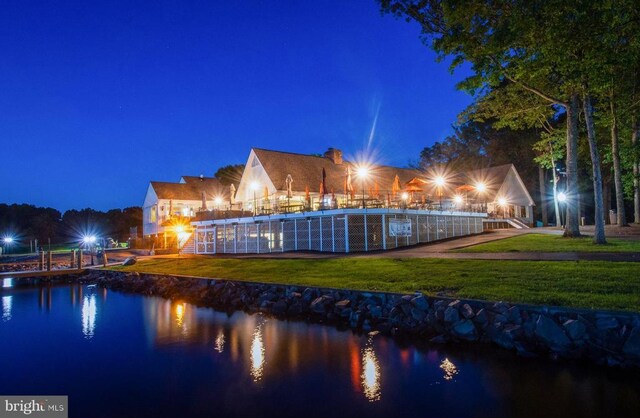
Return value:
M 640 314 L 94 270 L 109 289 L 223 311 L 264 312 L 411 336 L 433 343 L 495 344 L 521 356 L 640 368 Z

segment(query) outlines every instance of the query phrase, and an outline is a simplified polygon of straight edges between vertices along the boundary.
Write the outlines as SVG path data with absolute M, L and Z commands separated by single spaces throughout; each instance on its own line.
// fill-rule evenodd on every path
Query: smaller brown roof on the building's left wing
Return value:
M 152 181 L 151 187 L 158 199 L 198 200 L 202 201 L 202 193 L 205 198 L 211 200 L 214 196 L 224 196 L 225 188 L 218 179 L 212 177 L 183 176 L 184 183 L 171 183 L 164 181 Z

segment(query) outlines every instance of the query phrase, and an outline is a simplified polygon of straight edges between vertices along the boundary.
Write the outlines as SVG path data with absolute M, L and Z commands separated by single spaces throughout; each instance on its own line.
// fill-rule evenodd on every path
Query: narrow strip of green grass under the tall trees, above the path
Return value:
M 608 238 L 606 245 L 596 245 L 591 237 L 563 238 L 559 235 L 524 234 L 486 244 L 462 248 L 462 253 L 508 252 L 640 252 L 640 241 Z

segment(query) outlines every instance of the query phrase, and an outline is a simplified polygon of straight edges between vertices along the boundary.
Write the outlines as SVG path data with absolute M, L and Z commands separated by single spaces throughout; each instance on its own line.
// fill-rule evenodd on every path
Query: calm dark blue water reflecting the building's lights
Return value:
M 86 286 L 0 294 L 0 394 L 75 417 L 634 416 L 640 374 L 225 313 Z

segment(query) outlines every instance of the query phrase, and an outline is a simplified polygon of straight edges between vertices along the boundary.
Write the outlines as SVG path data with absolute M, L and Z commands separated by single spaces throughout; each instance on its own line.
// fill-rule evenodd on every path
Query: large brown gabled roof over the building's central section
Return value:
M 356 173 L 356 165 L 349 161 L 335 164 L 326 157 L 315 155 L 295 154 L 291 152 L 272 151 L 261 148 L 253 148 L 260 164 L 278 190 L 286 190 L 287 175 L 293 179 L 292 190 L 304 192 L 309 187 L 311 192 L 318 192 L 322 182 L 322 169 L 326 172 L 326 192 L 333 190 L 335 193 L 344 192 L 344 183 L 347 177 L 347 167 L 351 167 L 351 184 L 358 190 L 362 183 Z M 401 184 L 420 176 L 420 172 L 412 169 L 397 168 L 391 166 L 372 166 L 371 175 L 365 182 L 365 188 L 373 187 L 377 182 L 380 190 L 391 190 L 395 176 L 400 178 Z

